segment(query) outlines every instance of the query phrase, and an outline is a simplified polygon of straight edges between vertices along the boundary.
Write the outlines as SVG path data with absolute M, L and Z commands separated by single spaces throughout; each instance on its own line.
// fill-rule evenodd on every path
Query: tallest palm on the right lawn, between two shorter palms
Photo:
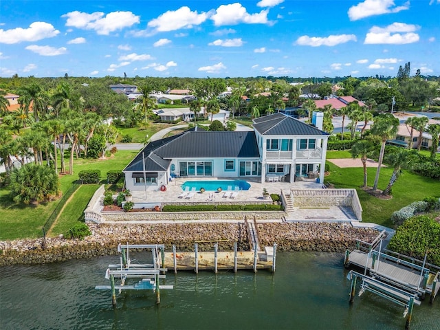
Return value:
M 373 191 L 377 190 L 380 167 L 382 166 L 382 161 L 384 159 L 386 140 L 395 137 L 398 128 L 399 120 L 389 113 L 377 116 L 373 126 L 371 126 L 371 134 L 380 137 L 380 139 L 382 140 L 382 144 L 380 146 L 379 160 L 377 162 L 377 171 L 374 179 Z

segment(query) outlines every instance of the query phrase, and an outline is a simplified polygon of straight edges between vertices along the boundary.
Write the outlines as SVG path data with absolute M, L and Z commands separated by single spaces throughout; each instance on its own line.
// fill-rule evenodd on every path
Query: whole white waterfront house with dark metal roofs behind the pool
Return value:
M 294 182 L 317 173 L 324 181 L 329 135 L 283 113 L 254 120 L 254 131 L 204 131 L 200 127 L 150 142 L 124 168 L 129 190 L 157 190 L 174 176 L 260 178 Z

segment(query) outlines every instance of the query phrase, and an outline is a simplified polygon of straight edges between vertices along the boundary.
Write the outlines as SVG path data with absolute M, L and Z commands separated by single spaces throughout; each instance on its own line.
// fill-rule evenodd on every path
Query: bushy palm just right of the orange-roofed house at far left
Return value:
M 25 113 L 29 113 L 32 107 L 34 119 L 38 122 L 40 115 L 47 113 L 48 98 L 45 91 L 41 89 L 40 85 L 32 83 L 21 87 L 19 94 L 19 103 L 23 104 Z

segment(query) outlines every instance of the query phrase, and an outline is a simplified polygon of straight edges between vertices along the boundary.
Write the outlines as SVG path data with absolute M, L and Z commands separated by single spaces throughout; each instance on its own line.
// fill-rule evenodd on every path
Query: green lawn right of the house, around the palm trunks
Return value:
M 360 203 L 362 204 L 362 220 L 364 222 L 373 222 L 386 227 L 393 228 L 390 220 L 391 214 L 413 201 L 420 201 L 428 196 L 440 195 L 439 181 L 428 177 L 414 175 L 404 170 L 393 186 L 392 199 L 379 199 L 369 195 L 360 188 L 364 181 L 362 167 L 359 168 L 339 168 L 338 166 L 327 162 L 330 168 L 330 175 L 325 177 L 336 188 L 355 188 L 358 190 Z M 368 185 L 373 186 L 377 168 L 367 168 Z M 379 189 L 386 188 L 393 170 L 391 168 L 382 168 L 379 177 Z

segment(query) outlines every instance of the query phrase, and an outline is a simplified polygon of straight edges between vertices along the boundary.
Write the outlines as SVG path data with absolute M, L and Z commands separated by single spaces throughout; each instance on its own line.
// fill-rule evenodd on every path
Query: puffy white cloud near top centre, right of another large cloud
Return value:
M 221 5 L 217 8 L 216 13 L 212 15 L 211 19 L 214 25 L 235 25 L 239 23 L 263 23 L 267 24 L 267 14 L 269 10 L 261 10 L 256 14 L 249 14 L 246 8 L 241 3 L 232 3 L 230 5 Z

